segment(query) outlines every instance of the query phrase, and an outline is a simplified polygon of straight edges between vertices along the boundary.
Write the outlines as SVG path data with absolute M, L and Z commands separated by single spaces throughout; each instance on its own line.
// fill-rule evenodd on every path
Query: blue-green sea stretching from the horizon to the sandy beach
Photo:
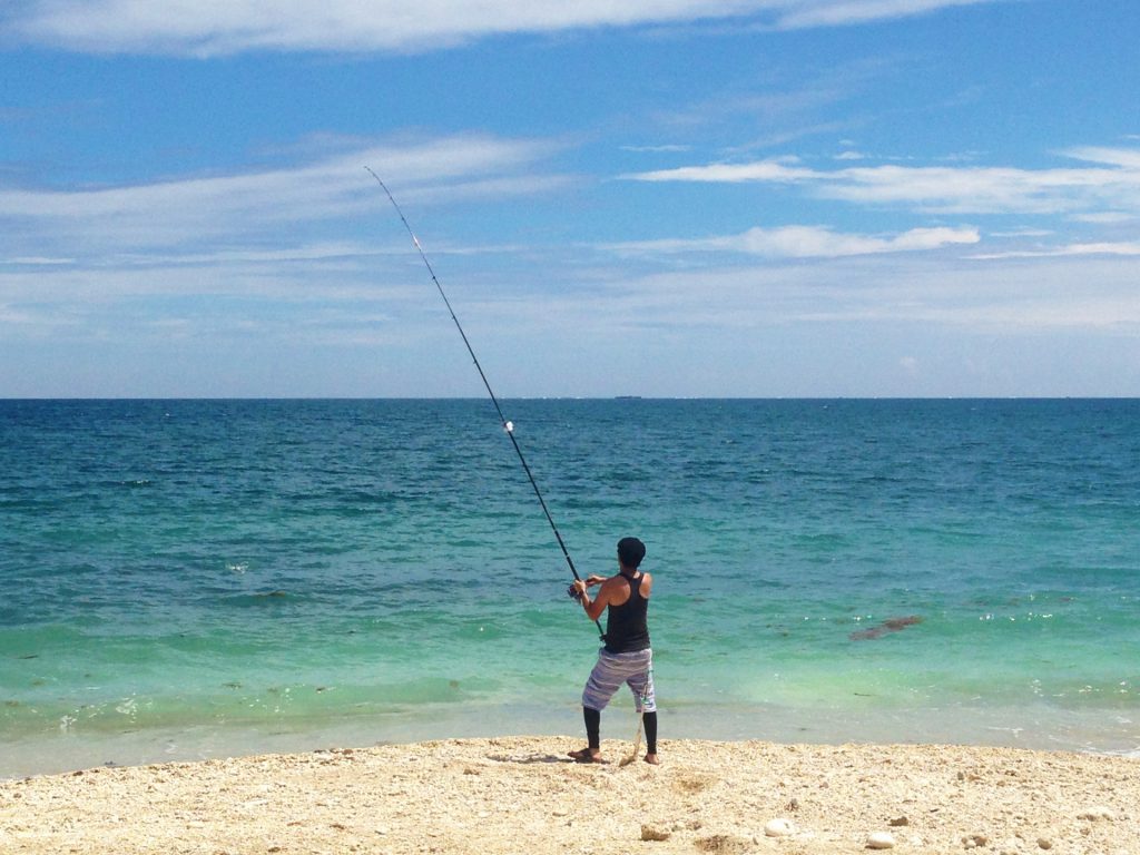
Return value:
M 1140 401 L 503 404 L 662 739 L 1140 751 Z M 0 776 L 577 742 L 570 579 L 488 400 L 0 401 Z

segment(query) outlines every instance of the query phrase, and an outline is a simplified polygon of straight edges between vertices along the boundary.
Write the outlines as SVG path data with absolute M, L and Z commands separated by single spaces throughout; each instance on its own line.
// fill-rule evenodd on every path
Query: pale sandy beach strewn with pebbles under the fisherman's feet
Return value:
M 943 746 L 567 738 L 328 749 L 0 783 L 3 853 L 1140 853 L 1140 765 Z

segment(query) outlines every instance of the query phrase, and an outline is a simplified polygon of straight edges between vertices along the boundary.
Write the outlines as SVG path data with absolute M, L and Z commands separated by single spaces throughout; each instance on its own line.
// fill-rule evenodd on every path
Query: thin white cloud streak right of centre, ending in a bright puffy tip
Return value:
M 640 254 L 738 252 L 775 259 L 805 259 L 936 250 L 953 244 L 976 244 L 978 239 L 978 231 L 972 228 L 918 228 L 883 237 L 842 234 L 817 226 L 783 226 L 752 228 L 725 237 L 620 244 L 614 249 Z

